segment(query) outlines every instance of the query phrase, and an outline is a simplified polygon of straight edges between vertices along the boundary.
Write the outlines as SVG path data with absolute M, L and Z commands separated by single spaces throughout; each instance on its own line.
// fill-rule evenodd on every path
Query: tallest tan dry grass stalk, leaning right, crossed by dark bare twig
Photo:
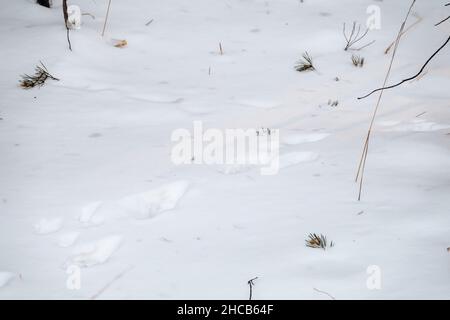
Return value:
M 386 77 L 384 78 L 384 82 L 383 82 L 382 88 L 386 87 L 386 84 L 387 84 L 387 82 L 389 80 L 389 76 L 391 74 L 392 66 L 394 64 L 394 59 L 395 59 L 395 56 L 397 54 L 397 49 L 398 49 L 398 46 L 399 46 L 399 43 L 400 43 L 400 39 L 402 37 L 403 31 L 405 30 L 406 22 L 408 21 L 408 18 L 409 18 L 410 14 L 411 14 L 412 8 L 414 7 L 415 3 L 416 3 L 416 0 L 413 0 L 412 3 L 411 3 L 411 6 L 409 7 L 408 13 L 406 14 L 405 20 L 403 21 L 403 23 L 402 23 L 402 25 L 400 27 L 400 31 L 397 34 L 397 39 L 395 41 L 394 51 L 392 53 L 392 58 L 391 58 L 391 61 L 389 63 L 389 68 L 387 70 Z M 366 139 L 364 141 L 363 152 L 362 152 L 361 158 L 359 160 L 358 171 L 357 171 L 356 179 L 355 179 L 356 182 L 358 182 L 358 180 L 359 180 L 358 201 L 361 200 L 362 186 L 363 186 L 363 181 L 364 181 L 364 171 L 365 171 L 365 167 L 366 167 L 367 155 L 368 155 L 368 152 L 369 152 L 370 136 L 371 136 L 371 133 L 372 133 L 374 122 L 375 122 L 375 117 L 376 117 L 376 115 L 378 113 L 378 109 L 380 107 L 381 98 L 383 97 L 383 93 L 384 93 L 384 90 L 382 89 L 380 91 L 380 95 L 378 96 L 378 100 L 377 100 L 377 103 L 375 105 L 375 109 L 373 111 L 372 118 L 370 120 L 369 129 L 367 131 Z

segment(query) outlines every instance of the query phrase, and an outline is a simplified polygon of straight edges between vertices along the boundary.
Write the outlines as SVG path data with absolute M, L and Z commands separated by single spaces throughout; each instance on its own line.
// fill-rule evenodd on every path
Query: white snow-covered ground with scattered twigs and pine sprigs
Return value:
M 254 299 L 450 298 L 450 48 L 385 93 L 360 202 L 354 183 L 376 102 L 356 97 L 410 1 L 113 0 L 104 38 L 107 0 L 69 3 L 95 17 L 72 52 L 60 1 L 1 4 L 1 299 L 247 299 L 253 277 Z M 448 37 L 444 4 L 417 1 L 390 82 Z M 370 5 L 355 68 L 342 23 Z M 304 51 L 317 71 L 294 70 Z M 19 88 L 40 60 L 60 81 Z M 279 129 L 279 173 L 175 166 L 171 133 L 196 120 Z

